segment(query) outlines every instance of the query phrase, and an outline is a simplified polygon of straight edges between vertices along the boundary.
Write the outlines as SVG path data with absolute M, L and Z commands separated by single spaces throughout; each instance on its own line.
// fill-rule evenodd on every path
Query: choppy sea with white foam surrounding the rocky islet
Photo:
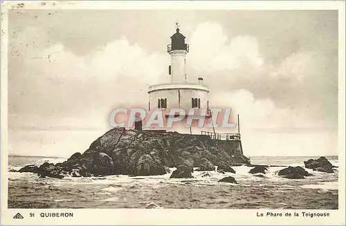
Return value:
M 252 164 L 267 164 L 255 176 L 252 167 L 236 166 L 235 173 L 194 171 L 194 178 L 114 175 L 91 178 L 39 178 L 15 172 L 27 164 L 63 162 L 45 156 L 8 157 L 9 208 L 168 208 L 168 209 L 338 209 L 338 168 L 335 173 L 305 169 L 313 176 L 286 179 L 277 171 L 304 167 L 320 156 L 253 156 Z M 337 156 L 325 156 L 338 167 Z M 171 172 L 174 168 L 171 169 Z M 233 176 L 237 184 L 218 182 Z

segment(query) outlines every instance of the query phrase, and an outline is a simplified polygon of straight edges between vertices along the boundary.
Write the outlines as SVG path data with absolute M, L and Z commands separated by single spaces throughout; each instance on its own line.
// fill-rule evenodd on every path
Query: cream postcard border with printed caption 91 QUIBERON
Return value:
M 43 6 L 41 3 L 45 2 Z M 1 3 L 1 224 L 2 225 L 345 225 L 345 2 L 343 1 L 23 1 L 22 9 L 169 9 L 169 10 L 338 10 L 338 149 L 339 209 L 324 218 L 259 218 L 257 212 L 301 212 L 282 209 L 8 209 L 8 10 L 19 1 Z M 73 218 L 13 219 L 20 212 L 73 212 Z

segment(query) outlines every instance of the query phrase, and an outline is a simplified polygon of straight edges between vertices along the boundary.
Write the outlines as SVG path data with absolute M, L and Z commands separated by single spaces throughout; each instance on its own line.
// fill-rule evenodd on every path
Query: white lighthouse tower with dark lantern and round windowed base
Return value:
M 189 45 L 185 43 L 185 36 L 179 26 L 170 37 L 167 53 L 171 61 L 167 73 L 170 80 L 149 86 L 149 111 L 161 109 L 166 117 L 170 116 L 170 109 L 184 109 L 188 114 L 190 109 L 207 109 L 209 88 L 204 84 L 203 77 L 197 81 L 188 81 L 186 57 Z

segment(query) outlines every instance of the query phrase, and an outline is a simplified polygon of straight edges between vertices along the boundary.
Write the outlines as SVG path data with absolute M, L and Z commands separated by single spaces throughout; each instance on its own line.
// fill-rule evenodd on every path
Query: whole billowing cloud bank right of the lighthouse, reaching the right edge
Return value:
M 221 104 L 218 100 L 226 104 L 228 96 L 232 99 L 237 91 L 245 90 L 247 94 L 238 98 L 242 105 L 258 106 L 250 114 L 268 113 L 269 109 L 273 113 L 271 118 L 281 121 L 280 124 L 267 121 L 267 126 L 336 128 L 335 113 L 323 106 L 337 107 L 337 76 L 334 70 L 327 70 L 329 61 L 318 48 L 296 50 L 273 62 L 262 55 L 260 50 L 266 46 L 260 46 L 256 37 L 242 34 L 230 38 L 218 23 L 210 22 L 197 26 L 190 44 L 188 78 L 190 81 L 204 78 L 210 86 L 211 106 Z M 280 53 L 280 48 L 277 51 Z M 242 92 L 237 96 L 239 93 Z M 246 102 L 250 96 L 255 104 Z

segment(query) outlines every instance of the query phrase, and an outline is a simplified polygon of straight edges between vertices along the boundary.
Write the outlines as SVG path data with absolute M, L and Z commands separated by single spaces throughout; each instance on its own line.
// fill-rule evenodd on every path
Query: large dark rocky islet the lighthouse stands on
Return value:
M 236 143 L 217 145 L 215 140 L 199 135 L 115 128 L 95 140 L 84 153 L 74 153 L 65 162 L 42 164 L 38 168 L 26 166 L 20 171 L 56 178 L 66 175 L 149 176 L 168 173 L 168 167 L 180 170 L 185 167 L 186 170 L 173 172 L 174 176 L 190 177 L 193 167 L 215 170 L 217 165 L 219 169 L 234 172 L 233 164 L 248 163 Z

